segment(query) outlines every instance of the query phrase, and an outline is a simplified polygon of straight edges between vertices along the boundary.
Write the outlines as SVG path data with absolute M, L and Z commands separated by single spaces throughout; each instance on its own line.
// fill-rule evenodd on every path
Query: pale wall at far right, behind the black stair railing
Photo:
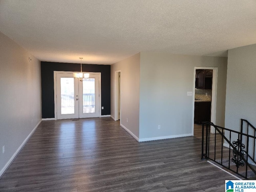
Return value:
M 256 44 L 228 50 L 225 127 L 240 131 L 240 119 L 256 126 Z

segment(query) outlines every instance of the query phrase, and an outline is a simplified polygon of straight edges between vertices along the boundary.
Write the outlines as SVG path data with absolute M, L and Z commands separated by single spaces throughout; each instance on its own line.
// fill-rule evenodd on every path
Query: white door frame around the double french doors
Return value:
M 77 71 L 53 71 L 54 78 L 54 120 L 57 120 L 57 78 L 56 74 L 73 74 L 77 73 Z M 99 75 L 99 117 L 101 117 L 101 72 L 84 72 L 89 74 Z M 96 110 L 96 109 L 95 109 Z

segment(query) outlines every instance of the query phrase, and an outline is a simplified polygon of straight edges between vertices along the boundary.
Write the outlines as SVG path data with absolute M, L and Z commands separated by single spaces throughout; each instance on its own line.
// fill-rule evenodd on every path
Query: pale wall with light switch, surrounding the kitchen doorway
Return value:
M 141 52 L 140 141 L 192 135 L 195 66 L 218 67 L 216 124 L 224 126 L 227 58 Z

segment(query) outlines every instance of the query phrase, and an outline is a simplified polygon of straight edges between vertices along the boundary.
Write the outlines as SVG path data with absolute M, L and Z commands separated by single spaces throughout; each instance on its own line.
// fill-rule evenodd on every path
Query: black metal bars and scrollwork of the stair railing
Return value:
M 206 125 L 206 135 L 204 134 L 204 126 Z M 210 127 L 214 127 L 216 133 L 219 133 L 221 136 L 221 162 L 218 162 L 216 160 L 216 134 L 212 135 L 211 138 L 214 136 L 214 145 L 212 145 L 212 141 L 210 140 Z M 251 126 L 251 125 L 250 125 Z M 252 126 L 253 127 L 253 126 Z M 255 129 L 256 130 L 256 129 Z M 224 131 L 225 134 L 224 134 Z M 226 136 L 229 133 L 229 138 L 227 138 Z M 248 132 L 247 132 L 248 133 Z M 234 140 L 234 134 L 237 135 L 237 140 Z M 225 136 L 226 135 L 226 136 Z M 232 136 L 231 136 L 232 135 Z M 246 145 L 244 145 L 242 143 L 242 138 L 246 137 Z M 231 139 L 232 138 L 232 139 Z M 241 128 L 241 132 L 235 131 L 235 130 L 230 130 L 228 128 L 223 128 L 220 126 L 216 126 L 215 124 L 213 124 L 212 122 L 203 122 L 202 124 L 202 156 L 201 159 L 210 159 L 214 162 L 216 162 L 217 164 L 220 164 L 221 166 L 224 166 L 225 168 L 227 168 L 228 170 L 231 170 L 232 172 L 235 172 L 236 174 L 244 177 L 244 178 L 248 178 L 248 168 L 250 168 L 250 170 L 254 173 L 254 176 L 256 175 L 256 170 L 252 167 L 252 165 L 248 162 L 248 158 L 250 158 L 252 160 L 252 162 L 254 162 L 254 164 L 256 164 L 254 158 L 252 158 L 252 156 L 249 154 L 249 138 L 254 140 L 254 150 L 255 150 L 255 140 L 256 140 L 256 136 L 254 133 L 254 136 L 243 133 L 242 132 L 242 128 Z M 205 139 L 205 141 L 204 141 Z M 213 139 L 212 139 L 213 140 Z M 233 142 L 231 142 L 231 140 L 234 140 Z M 223 143 L 229 145 L 229 154 L 228 154 L 228 166 L 224 165 L 224 161 L 223 161 Z M 210 156 L 210 145 L 213 147 L 214 146 L 214 158 Z M 204 146 L 205 146 L 205 153 L 204 153 Z M 211 149 L 212 149 L 211 147 Z M 231 156 L 231 150 L 232 150 L 232 154 L 233 154 L 233 158 L 230 158 Z M 246 158 L 244 157 L 244 155 L 246 155 Z M 255 152 L 254 152 L 254 157 L 255 157 Z M 230 165 L 230 161 L 232 161 L 235 165 L 236 165 L 236 170 L 232 170 L 231 169 L 231 165 Z M 240 166 L 244 166 L 246 165 L 246 172 L 245 175 L 241 174 L 240 172 L 238 172 L 238 168 Z

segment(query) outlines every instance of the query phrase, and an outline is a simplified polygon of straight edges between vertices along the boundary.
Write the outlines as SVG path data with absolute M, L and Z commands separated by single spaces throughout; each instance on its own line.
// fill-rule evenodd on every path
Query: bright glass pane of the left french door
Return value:
M 74 78 L 60 78 L 61 114 L 74 114 Z

